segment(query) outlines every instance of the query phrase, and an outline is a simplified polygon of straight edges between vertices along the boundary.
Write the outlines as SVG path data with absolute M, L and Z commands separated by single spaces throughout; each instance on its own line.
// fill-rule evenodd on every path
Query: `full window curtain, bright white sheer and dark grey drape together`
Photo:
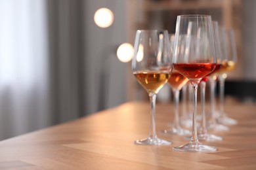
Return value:
M 0 140 L 85 116 L 82 9 L 0 0 Z

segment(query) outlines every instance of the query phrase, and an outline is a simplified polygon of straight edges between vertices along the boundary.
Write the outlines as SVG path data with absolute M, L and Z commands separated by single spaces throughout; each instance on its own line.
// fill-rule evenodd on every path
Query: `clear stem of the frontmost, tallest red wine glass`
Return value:
M 193 116 L 192 116 L 192 139 L 191 143 L 199 143 L 197 127 L 196 127 L 196 114 L 197 114 L 197 95 L 198 95 L 198 84 L 193 83 Z

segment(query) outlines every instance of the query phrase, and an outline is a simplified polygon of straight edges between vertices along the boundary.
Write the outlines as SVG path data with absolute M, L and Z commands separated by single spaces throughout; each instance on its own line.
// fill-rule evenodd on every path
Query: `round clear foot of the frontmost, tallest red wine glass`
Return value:
M 173 147 L 173 150 L 182 152 L 215 152 L 217 147 L 208 146 L 202 143 L 188 143 L 182 146 L 175 146 Z

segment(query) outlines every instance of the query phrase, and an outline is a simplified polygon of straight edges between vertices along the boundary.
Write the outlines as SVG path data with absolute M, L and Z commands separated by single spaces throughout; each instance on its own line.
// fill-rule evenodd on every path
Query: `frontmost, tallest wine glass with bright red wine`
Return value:
M 185 44 L 181 36 L 187 36 Z M 185 52 L 182 52 L 184 51 Z M 211 16 L 182 15 L 177 17 L 173 67 L 186 76 L 193 87 L 192 137 L 188 144 L 175 146 L 176 151 L 212 152 L 215 146 L 208 146 L 198 141 L 196 114 L 197 92 L 200 80 L 211 73 L 216 67 L 215 44 Z

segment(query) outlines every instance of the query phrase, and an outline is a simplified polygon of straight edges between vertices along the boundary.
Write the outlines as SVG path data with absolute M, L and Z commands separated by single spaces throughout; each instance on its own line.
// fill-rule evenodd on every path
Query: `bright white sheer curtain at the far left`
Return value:
M 49 126 L 43 0 L 0 0 L 0 139 Z

